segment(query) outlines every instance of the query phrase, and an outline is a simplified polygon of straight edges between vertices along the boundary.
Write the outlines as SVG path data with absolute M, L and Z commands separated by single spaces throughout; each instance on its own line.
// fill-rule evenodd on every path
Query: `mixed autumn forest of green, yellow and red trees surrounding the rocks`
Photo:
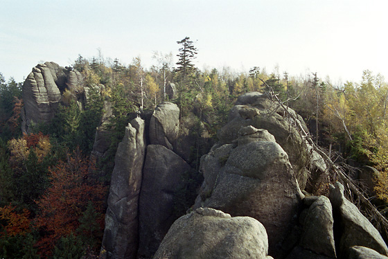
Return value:
M 124 66 L 102 55 L 79 55 L 73 64 L 89 89 L 80 109 L 77 93 L 64 91 L 51 123 L 21 134 L 21 83 L 0 80 L 0 257 L 96 258 L 103 233 L 105 198 L 117 144 L 136 111 L 147 113 L 165 100 L 181 116 L 193 115 L 216 138 L 236 98 L 248 91 L 273 92 L 305 118 L 312 138 L 382 173 L 378 195 L 388 202 L 388 86 L 380 75 L 364 71 L 362 82 L 333 85 L 317 73 L 291 76 L 253 67 L 247 73 L 229 68 L 200 71 L 197 49 L 188 37 L 171 53 L 155 53 L 155 66 L 140 57 Z M 175 92 L 166 87 L 174 84 Z M 103 127 L 111 147 L 105 161 L 90 158 L 96 127 Z M 105 167 L 105 168 L 103 168 Z M 62 257 L 61 257 L 62 256 Z

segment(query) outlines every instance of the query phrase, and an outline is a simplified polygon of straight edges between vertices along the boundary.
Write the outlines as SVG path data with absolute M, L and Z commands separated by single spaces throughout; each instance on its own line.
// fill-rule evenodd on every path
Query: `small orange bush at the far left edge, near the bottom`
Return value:
M 0 220 L 5 220 L 7 224 L 3 226 L 5 233 L 1 235 L 15 236 L 25 235 L 30 229 L 30 212 L 25 208 L 21 213 L 15 212 L 15 206 L 7 205 L 0 208 Z

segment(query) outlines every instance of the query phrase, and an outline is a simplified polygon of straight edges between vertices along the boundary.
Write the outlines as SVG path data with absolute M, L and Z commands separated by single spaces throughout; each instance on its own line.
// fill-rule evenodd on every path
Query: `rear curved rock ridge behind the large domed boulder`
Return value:
M 245 93 L 238 97 L 236 105 L 229 112 L 229 123 L 220 129 L 218 139 L 222 144 L 232 143 L 238 138 L 238 131 L 248 125 L 268 130 L 288 154 L 299 186 L 304 190 L 310 177 L 308 169 L 319 170 L 318 174 L 321 175 L 325 172 L 326 165 L 319 163 L 319 166 L 315 166 L 316 159 L 312 159 L 308 144 L 292 126 L 299 123 L 308 132 L 306 123 L 294 110 L 288 108 L 288 112 L 297 118 L 297 121 L 288 118 L 285 110 L 276 102 L 272 102 L 265 93 Z

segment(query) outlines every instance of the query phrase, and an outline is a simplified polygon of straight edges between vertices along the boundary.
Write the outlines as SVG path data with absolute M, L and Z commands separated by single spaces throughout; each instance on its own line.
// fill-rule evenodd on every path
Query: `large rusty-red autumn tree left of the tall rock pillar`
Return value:
M 37 202 L 41 213 L 36 223 L 46 231 L 37 244 L 42 255 L 48 255 L 59 238 L 76 233 L 80 226 L 78 219 L 89 201 L 101 215 L 101 219 L 96 220 L 103 222 L 106 188 L 90 179 L 89 166 L 87 159 L 82 159 L 80 152 L 76 151 L 68 161 L 60 161 L 49 169 L 52 186 Z

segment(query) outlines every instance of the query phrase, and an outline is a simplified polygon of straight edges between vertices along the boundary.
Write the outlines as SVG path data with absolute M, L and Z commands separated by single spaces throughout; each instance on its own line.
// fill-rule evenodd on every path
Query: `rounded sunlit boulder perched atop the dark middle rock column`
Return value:
M 179 132 L 179 108 L 172 102 L 157 106 L 150 120 L 150 143 L 173 150 Z

